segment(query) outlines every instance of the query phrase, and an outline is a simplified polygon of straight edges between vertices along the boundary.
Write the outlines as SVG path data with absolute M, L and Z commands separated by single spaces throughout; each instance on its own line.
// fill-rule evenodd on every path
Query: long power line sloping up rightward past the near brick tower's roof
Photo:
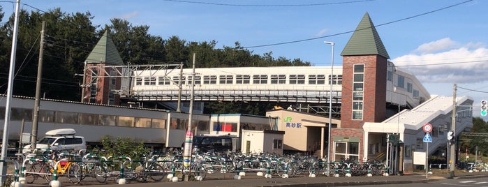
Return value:
M 446 6 L 446 7 L 443 7 L 443 8 L 438 8 L 436 10 L 431 10 L 431 11 L 429 11 L 427 13 L 421 13 L 421 14 L 418 14 L 418 15 L 413 15 L 411 17 L 406 17 L 406 18 L 403 18 L 403 19 L 400 19 L 400 20 L 394 20 L 392 22 L 386 22 L 384 24 L 378 24 L 378 25 L 376 25 L 374 27 L 380 27 L 380 26 L 383 26 L 383 25 L 392 24 L 392 23 L 395 23 L 395 22 L 401 22 L 401 21 L 404 21 L 404 20 L 410 20 L 410 19 L 413 19 L 415 17 L 420 17 L 422 15 L 427 15 L 427 14 L 435 13 L 435 12 L 438 12 L 438 11 L 441 11 L 441 10 L 445 10 L 445 9 L 448 9 L 448 8 L 452 8 L 454 6 L 459 6 L 461 4 L 468 3 L 469 1 L 473 1 L 473 0 L 464 1 L 464 2 L 461 2 L 461 3 L 454 4 L 452 6 Z M 364 29 L 371 29 L 371 27 L 364 28 Z M 363 30 L 363 29 L 358 29 L 358 30 L 355 30 L 355 31 L 360 31 L 360 30 Z M 290 44 L 290 43 L 300 43 L 300 42 L 304 42 L 304 41 L 308 41 L 308 40 L 316 40 L 316 39 L 327 38 L 327 37 L 331 37 L 331 36 L 339 36 L 339 35 L 343 35 L 343 34 L 346 34 L 346 33 L 353 33 L 355 31 L 346 31 L 346 32 L 342 32 L 342 33 L 334 33 L 334 34 L 327 35 L 327 36 L 320 36 L 320 37 L 308 38 L 308 39 L 303 39 L 303 40 L 293 40 L 293 41 L 282 42 L 282 43 L 273 43 L 273 44 L 265 44 L 265 45 L 253 45 L 253 46 L 248 46 L 248 47 L 243 47 L 243 48 L 269 47 L 269 46 L 274 46 L 274 45 L 284 45 L 284 44 Z

